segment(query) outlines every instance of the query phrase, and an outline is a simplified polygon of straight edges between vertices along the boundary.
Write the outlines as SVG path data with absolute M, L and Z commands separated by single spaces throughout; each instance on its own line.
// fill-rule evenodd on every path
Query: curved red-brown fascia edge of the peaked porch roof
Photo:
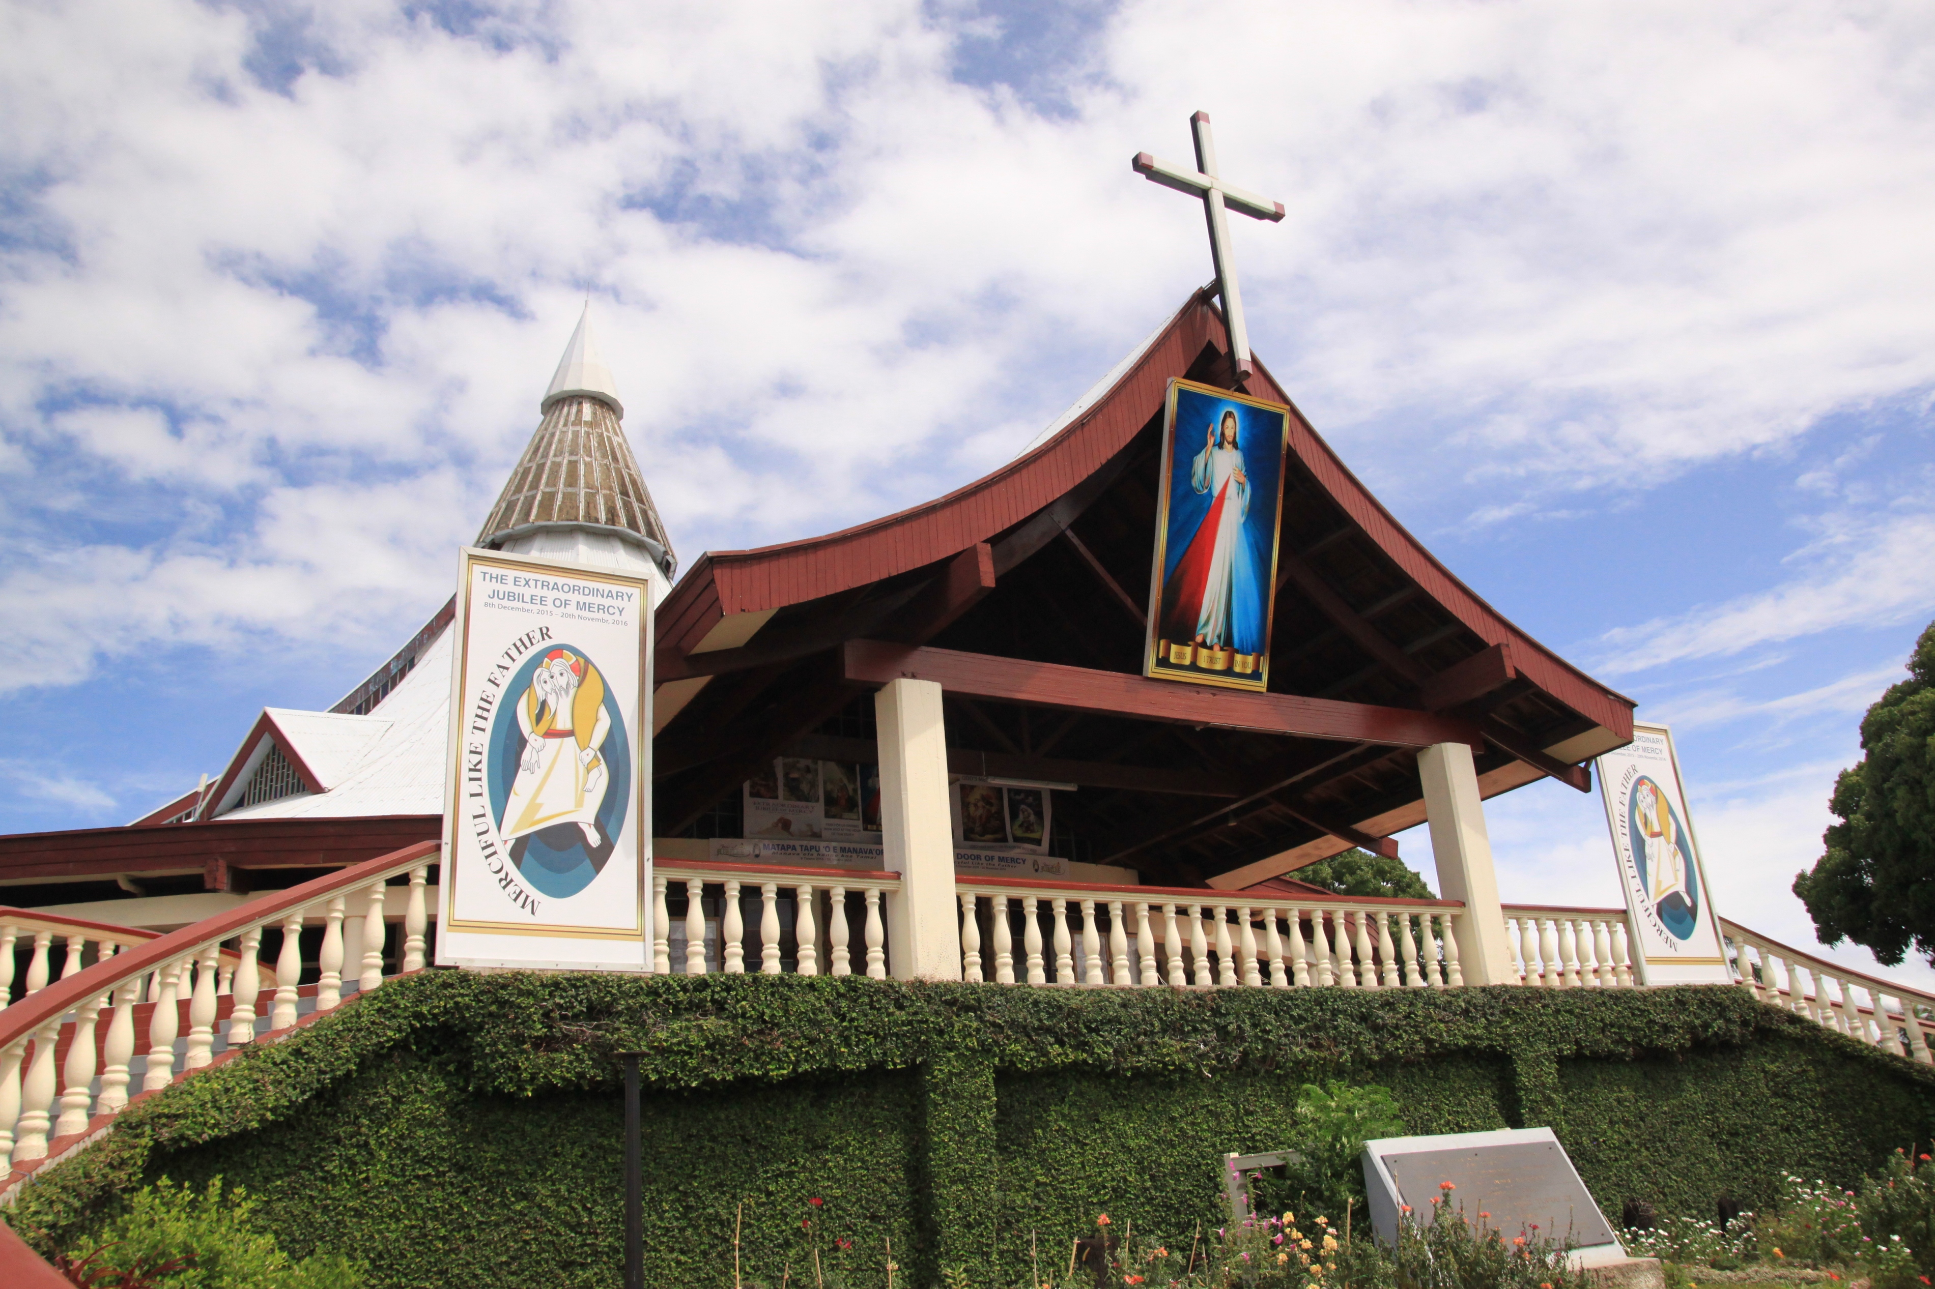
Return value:
M 838 594 L 946 559 L 1022 523 L 1101 468 L 1163 408 L 1171 377 L 1204 345 L 1227 350 L 1223 317 L 1198 290 L 1146 341 L 1101 397 L 1039 445 L 954 492 L 851 528 L 755 550 L 706 552 L 658 614 L 658 639 L 691 648 L 722 617 L 760 614 Z M 1519 672 L 1581 716 L 1631 739 L 1633 701 L 1534 641 L 1461 583 L 1351 472 L 1258 360 L 1252 393 L 1287 403 L 1291 451 L 1331 501 L 1407 577 L 1486 644 L 1511 644 Z M 1064 414 L 1066 416 L 1066 414 Z

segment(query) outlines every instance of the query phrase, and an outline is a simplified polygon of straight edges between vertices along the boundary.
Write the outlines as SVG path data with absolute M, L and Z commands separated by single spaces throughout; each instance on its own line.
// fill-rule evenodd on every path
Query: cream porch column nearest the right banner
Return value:
M 1438 892 L 1465 904 L 1465 915 L 1459 917 L 1465 943 L 1457 956 L 1465 983 L 1509 985 L 1511 948 L 1505 944 L 1505 914 L 1498 904 L 1492 838 L 1484 830 L 1484 803 L 1478 799 L 1471 745 L 1426 747 L 1418 753 L 1418 780 L 1424 784 L 1424 813 L 1432 828 L 1432 855 L 1438 859 Z

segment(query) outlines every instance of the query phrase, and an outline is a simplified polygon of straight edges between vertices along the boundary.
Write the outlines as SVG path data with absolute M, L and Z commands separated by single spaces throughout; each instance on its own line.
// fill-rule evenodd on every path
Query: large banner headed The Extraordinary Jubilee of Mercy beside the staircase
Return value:
M 652 592 L 466 548 L 437 962 L 646 970 Z

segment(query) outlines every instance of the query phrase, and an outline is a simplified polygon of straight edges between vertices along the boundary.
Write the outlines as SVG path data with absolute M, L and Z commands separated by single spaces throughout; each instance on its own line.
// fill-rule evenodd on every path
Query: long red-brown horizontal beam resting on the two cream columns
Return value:
M 1124 675 L 1122 672 L 1091 672 L 952 648 L 849 641 L 842 650 L 842 674 L 853 683 L 884 685 L 900 677 L 931 679 L 960 695 L 1053 706 L 1064 712 L 1101 712 L 1182 726 L 1215 726 L 1385 747 L 1478 745 L 1480 741 L 1478 728 L 1469 722 L 1401 706 L 1178 685 Z

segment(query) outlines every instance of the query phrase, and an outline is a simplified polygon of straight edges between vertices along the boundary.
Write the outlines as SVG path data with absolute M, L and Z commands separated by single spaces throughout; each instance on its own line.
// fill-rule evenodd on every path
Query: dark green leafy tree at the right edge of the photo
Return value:
M 1908 679 L 1861 718 L 1861 751 L 1834 782 L 1840 823 L 1827 854 L 1794 879 L 1823 944 L 1854 941 L 1894 966 L 1910 944 L 1935 964 L 1935 623 Z

